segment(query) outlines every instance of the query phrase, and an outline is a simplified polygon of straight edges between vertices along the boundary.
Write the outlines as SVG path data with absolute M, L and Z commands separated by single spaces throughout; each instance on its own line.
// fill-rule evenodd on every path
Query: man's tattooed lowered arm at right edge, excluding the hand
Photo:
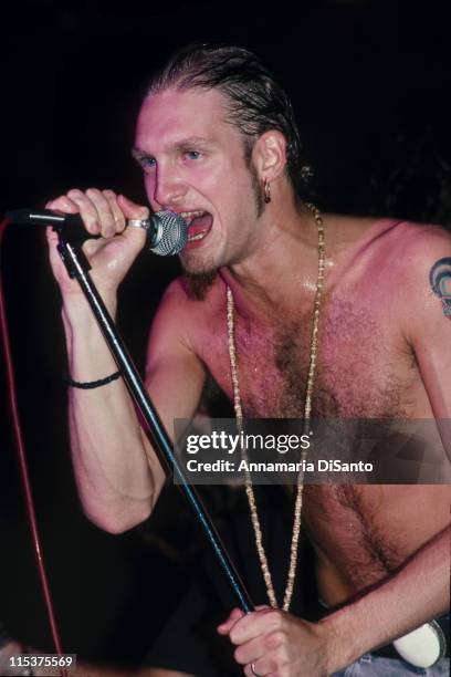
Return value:
M 405 338 L 411 346 L 419 367 L 442 441 L 448 450 L 443 464 L 451 458 L 447 419 L 451 418 L 451 317 L 443 313 L 445 303 L 431 289 L 431 271 L 437 261 L 447 260 L 448 288 L 451 296 L 451 237 L 436 227 L 418 227 L 410 232 L 399 252 L 398 316 Z M 440 270 L 447 269 L 441 264 Z M 432 275 L 434 277 L 434 275 Z M 444 434 L 443 434 L 444 433 Z M 447 473 L 448 475 L 448 473 Z M 451 492 L 449 493 L 451 499 Z M 450 501 L 451 502 L 451 501 Z M 333 614 L 325 625 L 339 635 L 352 650 L 354 660 L 375 646 L 387 644 L 410 629 L 422 625 L 449 608 L 450 601 L 450 529 L 447 528 L 420 548 L 415 555 L 386 583 L 355 604 Z M 347 631 L 346 627 L 349 629 Z M 353 635 L 354 633 L 354 635 Z M 354 636 L 354 642 L 353 642 Z M 342 658 L 348 659 L 343 655 Z

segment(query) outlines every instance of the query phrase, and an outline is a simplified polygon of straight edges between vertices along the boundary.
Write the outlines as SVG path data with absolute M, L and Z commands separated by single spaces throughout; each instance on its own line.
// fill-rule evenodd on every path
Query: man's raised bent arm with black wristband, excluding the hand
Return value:
M 155 319 L 146 368 L 147 389 L 170 436 L 174 418 L 192 417 L 204 379 L 199 360 L 180 336 L 183 322 L 176 285 L 166 292 Z M 77 309 L 71 321 L 67 314 L 64 310 L 73 378 L 93 381 L 115 372 L 91 311 L 82 314 Z M 88 390 L 70 388 L 69 415 L 75 478 L 90 519 L 111 532 L 147 519 L 165 473 L 139 426 L 125 383 L 118 379 Z

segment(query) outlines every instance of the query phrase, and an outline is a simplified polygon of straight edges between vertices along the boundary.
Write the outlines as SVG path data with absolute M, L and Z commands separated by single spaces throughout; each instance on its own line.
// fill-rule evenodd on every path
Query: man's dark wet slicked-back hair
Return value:
M 311 168 L 302 160 L 302 145 L 292 103 L 273 75 L 252 52 L 230 45 L 190 44 L 178 51 L 151 79 L 146 95 L 169 87 L 179 91 L 216 88 L 228 98 L 227 122 L 244 138 L 250 163 L 256 139 L 277 129 L 286 139 L 286 174 L 302 197 Z

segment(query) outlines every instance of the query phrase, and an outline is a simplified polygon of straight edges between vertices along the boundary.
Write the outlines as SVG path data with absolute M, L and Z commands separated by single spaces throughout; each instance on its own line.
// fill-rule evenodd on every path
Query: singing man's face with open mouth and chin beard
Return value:
M 259 183 L 226 116 L 218 91 L 166 90 L 144 102 L 136 128 L 149 202 L 183 215 L 189 240 L 180 259 L 195 275 L 239 263 L 258 244 Z

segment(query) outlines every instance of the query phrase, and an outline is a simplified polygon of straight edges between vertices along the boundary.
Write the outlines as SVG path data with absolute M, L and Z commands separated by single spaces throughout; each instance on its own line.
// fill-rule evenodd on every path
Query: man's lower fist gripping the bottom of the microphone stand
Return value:
M 234 658 L 248 677 L 325 677 L 328 634 L 286 612 L 260 607 L 250 614 L 234 608 L 218 627 L 238 646 Z

